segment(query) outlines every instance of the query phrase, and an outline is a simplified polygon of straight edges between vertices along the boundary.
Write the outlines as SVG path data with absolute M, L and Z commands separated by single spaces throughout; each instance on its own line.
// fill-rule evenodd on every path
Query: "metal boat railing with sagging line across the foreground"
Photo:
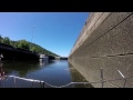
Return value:
M 13 78 L 13 83 L 14 83 L 16 88 L 19 88 L 17 86 L 17 79 L 31 82 L 32 86 L 30 88 L 33 88 L 34 83 L 39 83 L 40 88 L 47 88 L 47 87 L 49 87 L 49 88 L 66 88 L 66 87 L 70 87 L 70 86 L 75 86 L 75 84 L 92 84 L 93 86 L 93 83 L 101 83 L 101 88 L 103 88 L 105 82 L 110 82 L 111 83 L 112 81 L 124 80 L 123 87 L 120 87 L 120 86 L 114 84 L 114 83 L 112 83 L 112 84 L 115 86 L 115 87 L 117 87 L 117 88 L 125 88 L 126 80 L 131 79 L 133 77 L 127 77 L 126 78 L 126 77 L 124 77 L 124 74 L 120 70 L 117 70 L 117 72 L 120 73 L 120 76 L 122 78 L 114 79 L 114 80 L 105 80 L 103 78 L 103 69 L 101 68 L 101 81 L 95 81 L 95 82 L 70 82 L 68 84 L 60 86 L 60 87 L 52 86 L 52 84 L 50 84 L 50 83 L 48 83 L 45 81 L 42 81 L 42 80 L 27 79 L 27 78 L 20 78 L 20 77 L 16 77 L 16 76 L 6 76 L 3 80 L 0 80 L 0 84 L 1 84 L 2 81 L 6 82 L 9 78 Z M 4 82 L 2 83 L 1 88 L 6 88 L 4 87 Z

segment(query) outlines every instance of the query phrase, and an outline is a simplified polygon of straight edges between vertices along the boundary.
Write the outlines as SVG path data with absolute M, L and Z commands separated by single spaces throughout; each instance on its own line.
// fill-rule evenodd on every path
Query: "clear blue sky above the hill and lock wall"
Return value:
M 0 12 L 0 34 L 68 57 L 88 17 L 89 12 Z

